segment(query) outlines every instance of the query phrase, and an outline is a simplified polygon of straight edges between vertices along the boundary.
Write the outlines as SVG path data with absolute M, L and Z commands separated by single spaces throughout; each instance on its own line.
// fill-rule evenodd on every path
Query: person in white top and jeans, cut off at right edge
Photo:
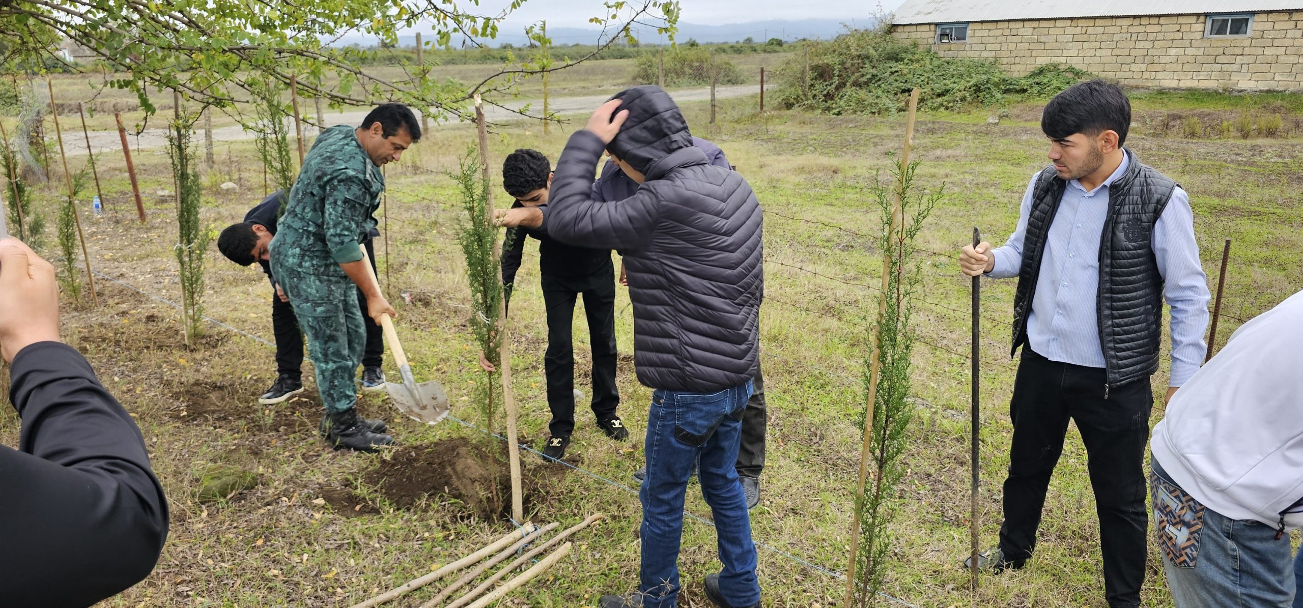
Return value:
M 1177 608 L 1299 605 L 1299 344 L 1303 292 L 1240 327 L 1153 430 L 1154 529 Z

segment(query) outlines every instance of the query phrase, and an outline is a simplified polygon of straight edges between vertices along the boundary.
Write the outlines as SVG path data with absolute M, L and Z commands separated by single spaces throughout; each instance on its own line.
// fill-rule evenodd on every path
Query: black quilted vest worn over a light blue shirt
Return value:
M 1151 238 L 1153 225 L 1177 189 L 1175 181 L 1140 164 L 1130 150 L 1126 154 L 1131 164 L 1109 186 L 1109 216 L 1100 233 L 1100 288 L 1095 310 L 1108 371 L 1105 397 L 1109 387 L 1121 387 L 1158 370 L 1162 275 Z M 1053 165 L 1036 178 L 1014 298 L 1011 354 L 1027 342 L 1027 319 L 1041 273 L 1045 237 L 1066 187 L 1067 181 L 1055 174 Z

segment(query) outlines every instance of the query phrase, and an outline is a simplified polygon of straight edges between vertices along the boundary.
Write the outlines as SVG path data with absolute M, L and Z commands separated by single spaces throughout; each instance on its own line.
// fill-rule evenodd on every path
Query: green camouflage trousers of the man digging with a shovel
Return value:
M 326 413 L 353 408 L 357 404 L 357 366 L 362 365 L 366 346 L 357 286 L 348 277 L 302 275 L 289 268 L 274 268 L 272 272 L 308 337 L 308 355 L 317 368 L 317 389 Z

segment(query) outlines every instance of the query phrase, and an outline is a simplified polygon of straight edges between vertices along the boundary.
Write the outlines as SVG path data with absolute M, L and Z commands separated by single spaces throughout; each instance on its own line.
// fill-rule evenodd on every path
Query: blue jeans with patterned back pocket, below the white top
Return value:
M 1290 536 L 1205 508 L 1151 463 L 1158 552 L 1177 608 L 1291 608 Z

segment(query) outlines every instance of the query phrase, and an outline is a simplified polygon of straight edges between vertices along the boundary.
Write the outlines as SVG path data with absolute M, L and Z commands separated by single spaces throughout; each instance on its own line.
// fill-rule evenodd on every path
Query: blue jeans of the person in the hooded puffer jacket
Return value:
M 674 608 L 679 599 L 679 543 L 683 501 L 697 458 L 701 493 L 714 516 L 719 543 L 719 591 L 734 607 L 760 601 L 756 546 L 751 540 L 747 497 L 737 482 L 741 418 L 752 383 L 717 393 L 652 393 L 648 417 L 648 475 L 642 501 L 642 570 L 638 591 L 645 608 Z

